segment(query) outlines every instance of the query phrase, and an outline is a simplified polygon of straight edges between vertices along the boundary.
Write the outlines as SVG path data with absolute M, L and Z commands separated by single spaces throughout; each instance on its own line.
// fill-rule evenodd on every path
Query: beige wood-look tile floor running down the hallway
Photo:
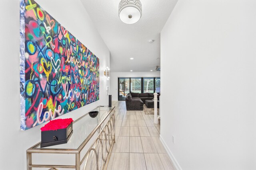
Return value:
M 116 143 L 108 170 L 174 170 L 159 140 L 160 125 L 154 115 L 144 111 L 126 111 L 125 102 L 116 106 Z

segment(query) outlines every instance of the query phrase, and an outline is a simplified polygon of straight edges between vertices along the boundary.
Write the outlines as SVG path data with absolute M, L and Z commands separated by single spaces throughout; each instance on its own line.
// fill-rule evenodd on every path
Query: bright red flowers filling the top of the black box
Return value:
M 58 129 L 65 129 L 68 127 L 68 125 L 70 125 L 71 122 L 73 122 L 72 118 L 50 120 L 49 123 L 41 127 L 41 131 L 56 131 Z

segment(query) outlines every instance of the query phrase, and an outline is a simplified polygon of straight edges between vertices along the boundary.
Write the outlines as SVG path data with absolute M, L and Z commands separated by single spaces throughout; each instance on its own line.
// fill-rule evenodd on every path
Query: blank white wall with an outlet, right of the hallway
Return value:
M 179 0 L 162 29 L 161 136 L 183 170 L 256 169 L 255 7 Z

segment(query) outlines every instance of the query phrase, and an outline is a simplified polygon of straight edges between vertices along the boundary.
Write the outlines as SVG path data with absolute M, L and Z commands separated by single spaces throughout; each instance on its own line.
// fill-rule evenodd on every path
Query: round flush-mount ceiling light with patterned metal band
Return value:
M 121 0 L 119 3 L 119 18 L 124 23 L 132 24 L 140 20 L 142 5 L 139 0 Z

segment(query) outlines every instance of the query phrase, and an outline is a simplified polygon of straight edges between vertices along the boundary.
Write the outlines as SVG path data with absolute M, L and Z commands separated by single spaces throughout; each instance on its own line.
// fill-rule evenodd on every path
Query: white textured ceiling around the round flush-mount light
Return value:
M 110 50 L 111 71 L 150 71 L 160 65 L 160 31 L 177 1 L 140 0 L 142 17 L 126 24 L 118 17 L 120 0 L 81 0 Z

